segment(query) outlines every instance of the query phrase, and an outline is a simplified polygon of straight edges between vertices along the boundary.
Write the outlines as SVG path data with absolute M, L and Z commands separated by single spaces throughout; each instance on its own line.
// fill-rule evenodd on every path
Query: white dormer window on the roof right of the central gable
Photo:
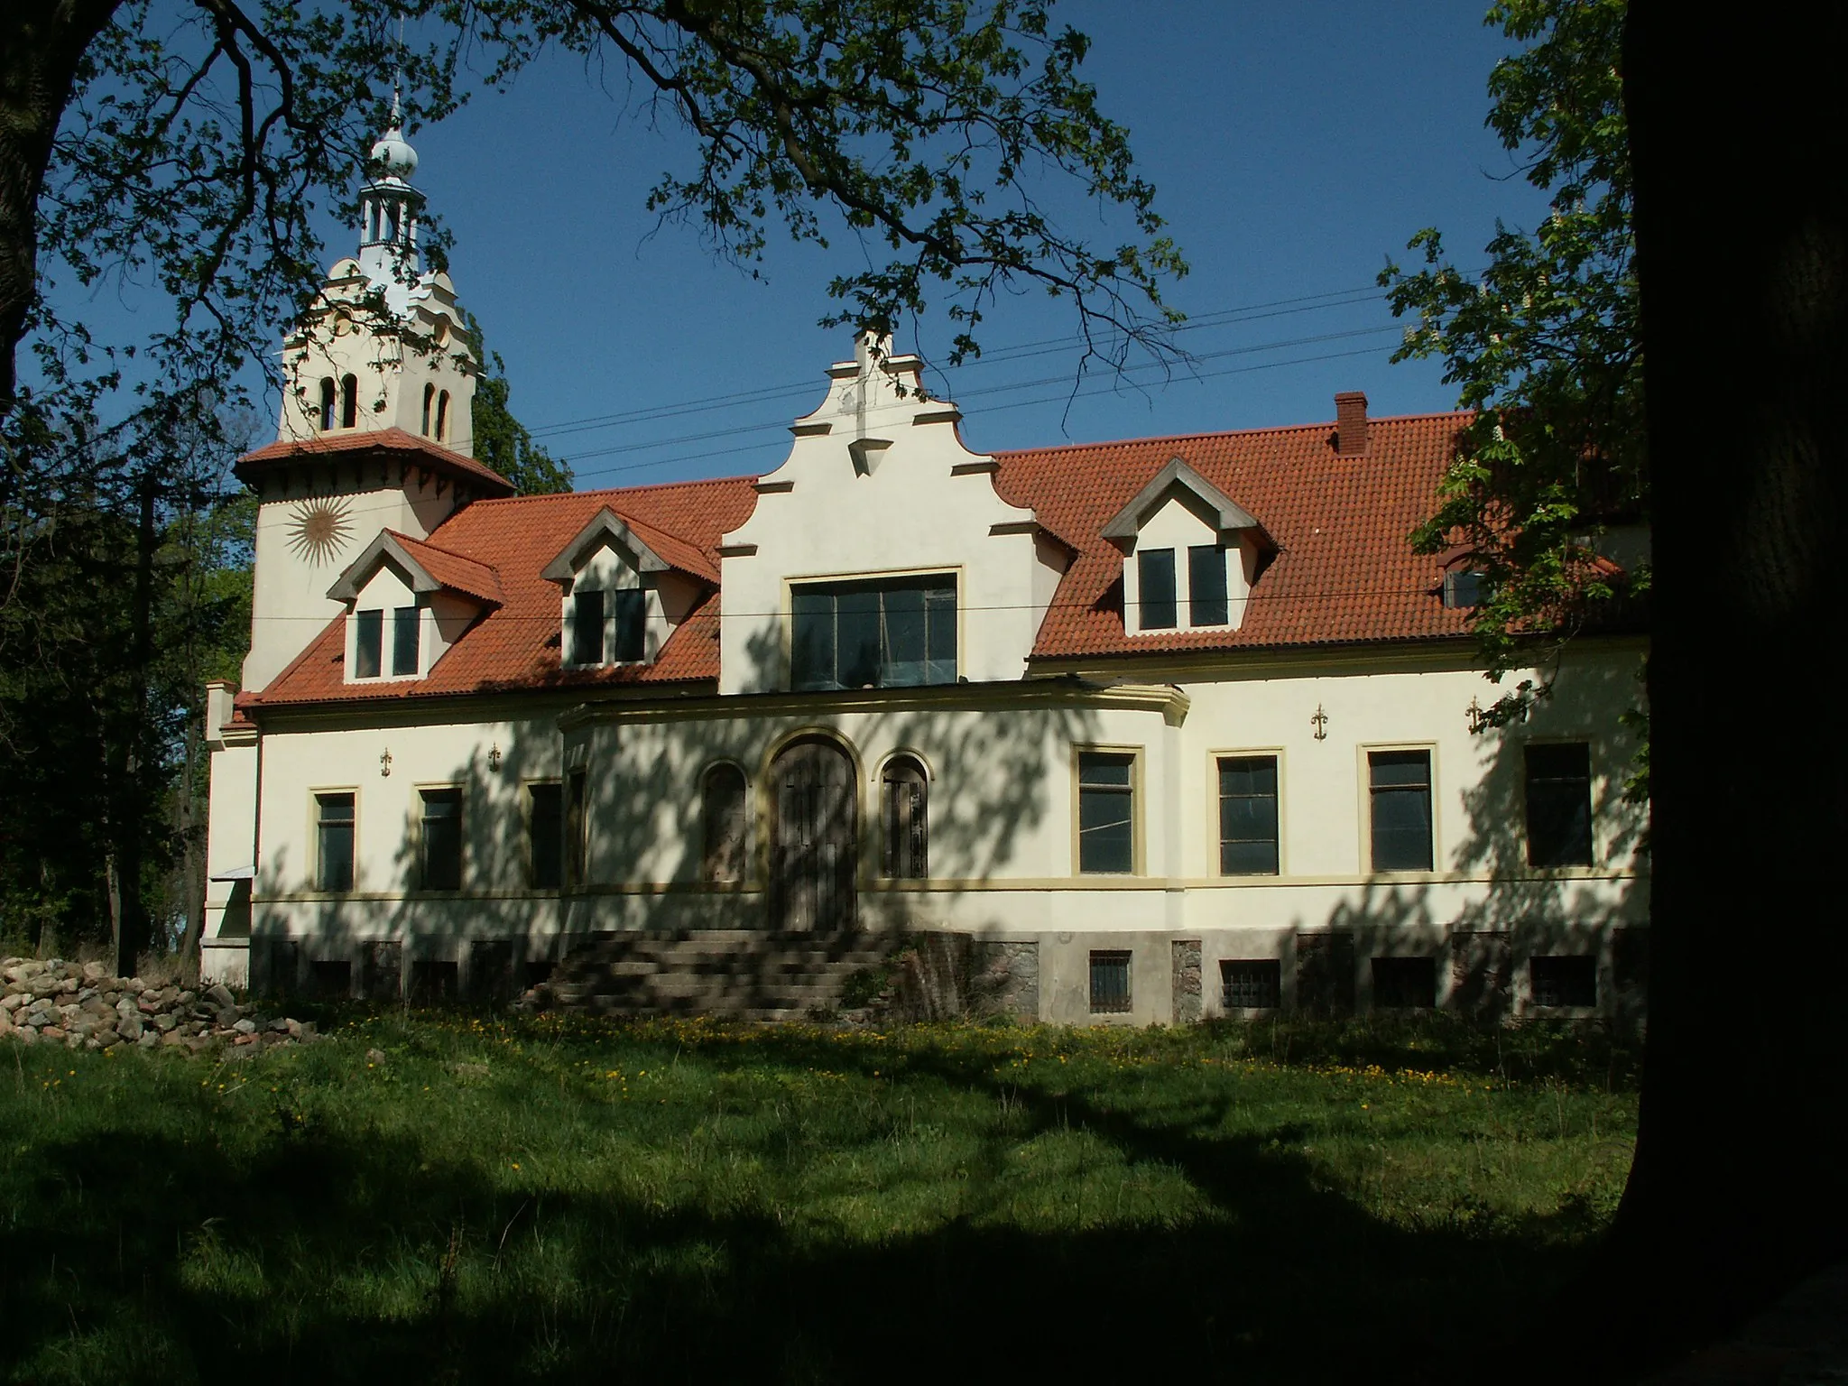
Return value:
M 1236 630 L 1251 582 L 1275 551 L 1258 521 L 1181 458 L 1170 460 L 1103 534 L 1125 551 L 1124 630 L 1131 636 L 1183 626 Z

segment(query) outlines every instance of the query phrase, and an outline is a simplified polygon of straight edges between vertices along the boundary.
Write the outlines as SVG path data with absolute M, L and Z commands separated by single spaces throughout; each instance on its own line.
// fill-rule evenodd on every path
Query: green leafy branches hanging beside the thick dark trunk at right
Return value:
M 1536 231 L 1497 227 L 1489 266 L 1458 272 L 1436 229 L 1388 266 L 1395 314 L 1414 316 L 1395 360 L 1438 357 L 1477 410 L 1419 553 L 1464 556 L 1488 578 L 1475 632 L 1493 678 L 1545 660 L 1648 591 L 1648 564 L 1600 560 L 1613 529 L 1648 523 L 1643 355 L 1632 176 L 1621 102 L 1624 0 L 1506 0 L 1488 22 L 1519 44 L 1489 76 L 1488 124 L 1549 194 Z M 1523 717 L 1521 684 L 1484 719 Z

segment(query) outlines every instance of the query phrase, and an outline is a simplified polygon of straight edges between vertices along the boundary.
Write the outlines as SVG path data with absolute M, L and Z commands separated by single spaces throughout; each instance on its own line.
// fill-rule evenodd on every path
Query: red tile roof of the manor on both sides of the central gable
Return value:
M 1356 456 L 1336 455 L 1332 423 L 996 453 L 1002 497 L 1031 508 L 1077 554 L 1033 658 L 1464 636 L 1469 614 L 1441 601 L 1441 556 L 1417 556 L 1406 541 L 1434 508 L 1464 423 L 1462 414 L 1373 419 L 1369 447 Z M 1173 456 L 1249 510 L 1277 543 L 1240 630 L 1124 632 L 1122 551 L 1101 530 Z M 675 630 L 652 665 L 564 669 L 560 595 L 540 569 L 608 506 L 663 560 L 717 582 L 719 540 L 750 516 L 752 482 L 730 477 L 464 506 L 418 545 L 419 562 L 425 554 L 442 562 L 442 554 L 456 564 L 451 573 L 464 564 L 475 575 L 490 569 L 505 604 L 471 626 L 427 678 L 346 684 L 336 619 L 268 689 L 240 704 L 715 680 L 717 591 Z M 438 575 L 434 565 L 431 573 Z

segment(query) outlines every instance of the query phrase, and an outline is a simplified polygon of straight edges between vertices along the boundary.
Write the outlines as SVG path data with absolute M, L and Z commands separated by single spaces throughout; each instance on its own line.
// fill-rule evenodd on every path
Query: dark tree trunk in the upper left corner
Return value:
M 13 408 L 13 353 L 37 294 L 39 190 L 78 61 L 120 0 L 0 6 L 0 416 Z

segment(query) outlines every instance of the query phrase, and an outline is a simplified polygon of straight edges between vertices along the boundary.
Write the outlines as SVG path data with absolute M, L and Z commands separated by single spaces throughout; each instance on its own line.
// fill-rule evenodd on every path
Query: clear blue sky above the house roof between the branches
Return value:
M 1436 364 L 1388 362 L 1399 327 L 1373 281 L 1419 227 L 1443 227 L 1473 268 L 1497 216 L 1532 225 L 1541 213 L 1482 124 L 1506 52 L 1484 7 L 1059 4 L 1057 18 L 1092 35 L 1085 74 L 1131 129 L 1192 264 L 1170 301 L 1203 320 L 1181 336 L 1201 379 L 1092 375 L 1074 399 L 1077 349 L 1057 346 L 1077 325 L 1070 303 L 1009 298 L 989 309 L 989 359 L 930 377 L 963 405 L 965 442 L 1303 423 L 1332 418 L 1334 392 L 1353 388 L 1375 414 L 1451 408 Z M 514 412 L 580 488 L 765 471 L 787 451 L 789 419 L 821 399 L 822 368 L 850 355 L 843 329 L 815 323 L 828 277 L 869 251 L 772 240 L 752 279 L 693 227 L 656 227 L 645 194 L 663 168 L 687 166 L 691 146 L 652 129 L 621 81 L 565 59 L 529 70 L 416 131 L 416 181 L 455 237 L 456 290 L 506 360 Z M 1070 214 L 1105 246 L 1120 238 L 1090 207 Z M 329 227 L 329 255 L 353 238 Z M 907 325 L 900 347 L 937 364 L 948 340 L 939 312 Z M 1011 351 L 1022 344 L 1040 346 Z M 739 392 L 752 394 L 700 403 Z

